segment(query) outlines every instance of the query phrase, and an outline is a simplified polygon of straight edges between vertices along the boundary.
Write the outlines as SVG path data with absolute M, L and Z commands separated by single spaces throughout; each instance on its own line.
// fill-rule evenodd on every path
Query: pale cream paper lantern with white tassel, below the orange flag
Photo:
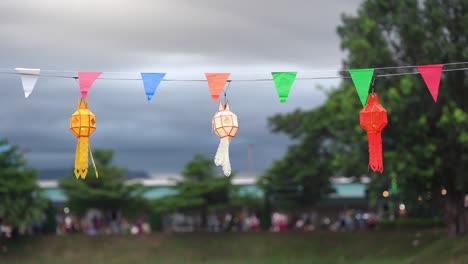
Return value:
M 231 163 L 229 160 L 229 142 L 234 138 L 239 130 L 237 115 L 229 109 L 229 102 L 226 105 L 220 101 L 218 112 L 213 117 L 213 131 L 220 137 L 220 143 L 215 155 L 216 166 L 222 166 L 224 175 L 231 175 Z

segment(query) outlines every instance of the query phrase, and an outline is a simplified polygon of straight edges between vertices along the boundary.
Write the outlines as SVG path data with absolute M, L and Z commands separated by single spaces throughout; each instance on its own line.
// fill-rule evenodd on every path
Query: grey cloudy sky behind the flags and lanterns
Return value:
M 254 145 L 254 172 L 280 159 L 291 142 L 271 134 L 267 117 L 311 109 L 325 97 L 316 87 L 336 81 L 296 81 L 280 104 L 271 71 L 298 77 L 338 69 L 343 58 L 336 26 L 359 0 L 2 0 L 0 68 L 103 71 L 102 77 L 138 78 L 167 72 L 171 79 L 203 79 L 204 72 L 232 72 L 228 91 L 240 131 L 231 162 L 247 173 L 247 146 Z M 107 73 L 106 73 L 107 72 Z M 331 73 L 326 73 L 332 74 Z M 69 117 L 80 97 L 73 79 L 40 78 L 28 99 L 17 75 L 0 74 L 0 136 L 27 150 L 29 165 L 68 168 L 76 138 Z M 154 175 L 176 174 L 194 153 L 213 156 L 217 110 L 206 82 L 163 82 L 147 101 L 141 81 L 97 80 L 88 98 L 97 116 L 94 148 L 112 148 L 115 161 Z

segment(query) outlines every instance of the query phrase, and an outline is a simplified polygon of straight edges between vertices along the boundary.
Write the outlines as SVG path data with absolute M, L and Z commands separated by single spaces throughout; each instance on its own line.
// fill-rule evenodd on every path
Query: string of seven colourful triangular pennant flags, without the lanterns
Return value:
M 71 71 L 59 71 L 59 70 L 40 70 L 30 68 L 15 68 L 14 71 L 0 70 L 0 74 L 18 74 L 21 76 L 21 82 L 23 85 L 24 96 L 28 98 L 34 90 L 39 77 L 53 77 L 53 78 L 73 78 L 79 82 L 80 92 L 83 98 L 86 98 L 87 93 L 91 86 L 97 79 L 103 80 L 142 80 L 143 88 L 146 94 L 147 100 L 151 100 L 154 96 L 156 89 L 163 81 L 206 81 L 208 83 L 209 92 L 214 101 L 219 99 L 227 82 L 238 82 L 238 81 L 273 81 L 275 84 L 278 97 L 281 103 L 285 103 L 289 92 L 296 80 L 318 80 L 318 79 L 352 79 L 356 88 L 359 99 L 364 106 L 367 100 L 367 94 L 369 87 L 374 78 L 379 77 L 394 77 L 401 75 L 420 74 L 435 102 L 439 94 L 439 85 L 442 72 L 449 71 L 464 71 L 468 70 L 468 67 L 458 67 L 444 69 L 444 66 L 456 66 L 468 64 L 468 62 L 452 62 L 445 64 L 430 64 L 430 65 L 414 65 L 414 66 L 393 66 L 393 67 L 380 67 L 380 68 L 366 68 L 366 69 L 342 69 L 334 70 L 336 73 L 348 73 L 341 74 L 339 76 L 315 76 L 315 77 L 297 77 L 298 72 L 271 72 L 271 79 L 229 79 L 231 73 L 205 73 L 204 79 L 168 79 L 166 73 L 149 73 L 142 72 L 140 78 L 119 78 L 119 77 L 102 77 L 104 72 L 71 72 Z M 388 71 L 388 70 L 401 70 L 401 69 L 417 69 L 417 71 L 406 71 L 396 73 L 383 73 L 375 74 L 375 71 Z M 330 72 L 332 70 L 322 70 L 315 72 Z M 54 73 L 54 74 L 44 74 Z M 62 75 L 58 74 L 62 73 Z M 73 76 L 63 75 L 63 73 L 74 73 Z M 130 72 L 106 72 L 106 73 L 120 73 L 128 74 Z M 135 74 L 133 72 L 133 74 Z

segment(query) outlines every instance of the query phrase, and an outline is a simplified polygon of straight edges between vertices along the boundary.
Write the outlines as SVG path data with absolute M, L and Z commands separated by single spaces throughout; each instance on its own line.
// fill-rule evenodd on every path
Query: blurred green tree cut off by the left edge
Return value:
M 0 140 L 0 220 L 20 233 L 44 220 L 47 200 L 36 180 L 18 147 Z

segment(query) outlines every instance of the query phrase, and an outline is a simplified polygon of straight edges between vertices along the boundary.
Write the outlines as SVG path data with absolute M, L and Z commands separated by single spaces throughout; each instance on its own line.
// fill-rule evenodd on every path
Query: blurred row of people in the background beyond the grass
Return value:
M 332 221 L 327 216 L 319 218 L 317 212 L 301 214 L 273 212 L 270 219 L 270 231 L 297 230 L 310 232 L 321 229 L 337 232 L 371 230 L 377 225 L 376 215 L 362 210 L 345 210 L 340 212 L 337 218 L 335 215 L 335 219 L 337 220 Z M 249 213 L 248 211 L 227 212 L 224 214 L 210 213 L 206 216 L 205 221 L 206 225 L 203 225 L 200 214 L 167 213 L 162 218 L 162 230 L 169 232 L 252 232 L 261 229 L 258 214 Z M 150 224 L 144 218 L 130 222 L 120 213 L 104 214 L 98 210 L 89 210 L 84 217 L 78 218 L 65 208 L 63 213 L 57 215 L 56 222 L 56 233 L 59 235 L 76 232 L 83 232 L 87 235 L 136 235 L 151 232 Z

